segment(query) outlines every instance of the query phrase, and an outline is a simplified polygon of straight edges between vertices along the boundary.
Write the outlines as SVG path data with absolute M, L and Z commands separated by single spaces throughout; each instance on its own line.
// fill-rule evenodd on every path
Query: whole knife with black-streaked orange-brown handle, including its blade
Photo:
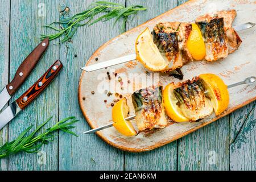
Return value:
M 13 118 L 24 110 L 40 93 L 47 88 L 47 86 L 52 82 L 52 80 L 57 76 L 57 74 L 63 68 L 63 64 L 57 60 L 48 69 L 38 81 L 35 82 L 22 96 L 20 96 L 16 101 L 6 107 L 5 110 L 0 113 L 0 130 L 7 125 Z

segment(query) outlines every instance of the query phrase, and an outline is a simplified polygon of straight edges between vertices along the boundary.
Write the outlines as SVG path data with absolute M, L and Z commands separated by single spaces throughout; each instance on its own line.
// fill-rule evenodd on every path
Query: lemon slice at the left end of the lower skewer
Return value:
M 125 120 L 128 113 L 129 106 L 127 105 L 126 98 L 123 98 L 122 100 L 118 101 L 117 104 L 115 104 L 113 107 L 113 126 L 119 131 L 119 133 L 127 137 L 132 137 L 137 134 L 137 131 L 134 129 L 133 125 L 131 125 L 130 121 Z

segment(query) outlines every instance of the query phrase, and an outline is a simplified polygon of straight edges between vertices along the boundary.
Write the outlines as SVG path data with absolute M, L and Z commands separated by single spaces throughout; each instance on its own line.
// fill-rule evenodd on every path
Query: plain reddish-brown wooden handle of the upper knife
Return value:
M 18 90 L 20 85 L 26 80 L 30 75 L 32 70 L 35 68 L 36 64 L 39 62 L 44 52 L 49 46 L 49 39 L 44 39 L 31 53 L 27 58 L 20 64 L 18 70 L 15 73 L 13 81 L 6 86 L 10 96 L 13 96 L 14 93 Z

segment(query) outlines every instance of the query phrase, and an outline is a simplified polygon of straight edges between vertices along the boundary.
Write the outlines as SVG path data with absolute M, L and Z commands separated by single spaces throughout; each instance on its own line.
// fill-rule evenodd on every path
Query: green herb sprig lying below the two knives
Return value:
M 36 135 L 38 131 L 42 129 L 42 127 L 46 125 L 46 123 L 48 123 L 51 119 L 52 117 L 47 119 L 47 121 L 38 126 L 35 131 L 33 131 L 27 137 L 26 135 L 28 134 L 28 131 L 30 131 L 33 126 L 30 126 L 24 130 L 18 138 L 13 140 L 13 142 L 5 143 L 2 147 L 0 147 L 0 159 L 21 151 L 27 153 L 39 152 L 39 149 L 43 146 L 43 144 L 48 144 L 54 140 L 56 135 L 53 135 L 53 133 L 57 130 L 62 130 L 65 133 L 69 133 L 78 137 L 75 133 L 73 133 L 73 131 L 71 131 L 71 129 L 75 128 L 75 126 L 72 126 L 73 123 L 78 121 L 75 119 L 75 117 L 65 118 L 62 121 L 57 122 L 56 125 L 48 128 L 47 130 L 44 130 L 42 134 Z

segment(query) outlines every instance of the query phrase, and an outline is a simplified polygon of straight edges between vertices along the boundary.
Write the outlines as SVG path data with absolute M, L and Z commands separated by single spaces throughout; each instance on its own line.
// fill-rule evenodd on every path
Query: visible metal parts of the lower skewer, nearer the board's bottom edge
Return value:
M 231 85 L 228 85 L 228 88 L 233 88 L 235 86 L 238 86 L 238 85 L 243 85 L 243 84 L 251 84 L 253 82 L 256 81 L 256 77 L 255 76 L 251 76 L 251 77 L 248 77 L 246 78 L 245 80 L 243 81 L 240 81 L 240 82 L 237 82 L 235 84 L 231 84 Z M 135 119 L 135 115 L 132 115 L 128 118 L 126 118 L 125 120 L 126 121 L 131 121 Z M 104 130 L 104 129 L 108 129 L 109 127 L 112 127 L 113 126 L 113 123 L 110 123 L 108 125 L 104 125 L 104 126 L 101 126 L 101 127 L 98 127 L 97 129 L 93 129 L 93 130 L 89 130 L 89 131 L 85 131 L 84 134 L 91 134 L 91 133 L 96 133 L 97 131 L 101 131 L 101 130 Z

